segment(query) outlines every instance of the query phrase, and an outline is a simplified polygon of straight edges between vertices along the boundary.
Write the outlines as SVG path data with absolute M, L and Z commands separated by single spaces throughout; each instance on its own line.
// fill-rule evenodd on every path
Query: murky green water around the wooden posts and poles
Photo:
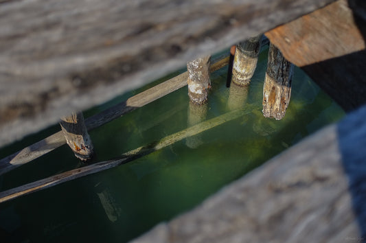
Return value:
M 194 137 L 194 141 L 200 141 L 196 148 L 187 146 L 190 139 L 183 139 L 132 163 L 0 204 L 0 242 L 126 242 L 158 222 L 192 209 L 222 186 L 343 117 L 341 108 L 295 69 L 286 117 L 281 121 L 264 118 L 266 49 L 260 54 L 251 82 L 247 115 Z M 224 68 L 211 75 L 207 119 L 228 112 L 226 72 Z M 84 115 L 98 113 L 139 91 L 126 93 Z M 187 128 L 188 110 L 184 87 L 93 130 L 94 161 L 118 157 Z M 3 148 L 0 157 L 57 130 L 54 126 Z M 0 190 L 80 166 L 71 150 L 62 146 L 1 176 Z

